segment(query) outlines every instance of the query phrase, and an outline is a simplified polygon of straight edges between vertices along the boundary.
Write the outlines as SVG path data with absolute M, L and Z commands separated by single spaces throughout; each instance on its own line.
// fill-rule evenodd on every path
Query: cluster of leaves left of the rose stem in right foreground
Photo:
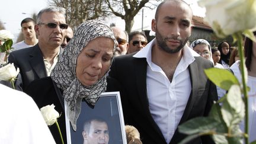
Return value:
M 244 133 L 239 129 L 239 123 L 244 119 L 245 105 L 238 79 L 225 69 L 210 68 L 204 72 L 214 84 L 229 91 L 213 104 L 208 117 L 196 117 L 178 127 L 179 132 L 190 135 L 180 144 L 203 135 L 211 135 L 216 144 L 242 144 Z

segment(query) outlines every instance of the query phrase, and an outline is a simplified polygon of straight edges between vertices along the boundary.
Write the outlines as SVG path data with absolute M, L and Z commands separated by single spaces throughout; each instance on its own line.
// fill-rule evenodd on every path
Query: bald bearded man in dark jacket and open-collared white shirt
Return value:
M 109 76 L 121 87 L 124 121 L 139 130 L 142 143 L 180 142 L 187 135 L 178 126 L 207 116 L 217 101 L 216 86 L 204 74 L 213 63 L 186 45 L 192 16 L 184 1 L 162 2 L 152 20 L 156 39 L 135 55 L 116 57 L 111 66 Z M 197 137 L 189 143 L 212 140 Z

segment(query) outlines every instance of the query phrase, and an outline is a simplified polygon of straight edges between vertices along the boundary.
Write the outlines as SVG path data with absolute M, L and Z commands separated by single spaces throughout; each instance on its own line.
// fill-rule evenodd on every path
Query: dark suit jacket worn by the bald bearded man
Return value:
M 207 116 L 213 101 L 217 100 L 216 87 L 203 72 L 204 69 L 213 67 L 213 64 L 202 57 L 195 59 L 188 66 L 192 89 L 179 125 L 194 117 Z M 114 59 L 109 76 L 116 79 L 122 88 L 120 94 L 124 122 L 139 130 L 143 144 L 166 143 L 149 110 L 146 89 L 147 66 L 145 58 L 135 58 L 132 55 L 118 56 Z M 176 144 L 185 136 L 176 130 L 170 143 Z M 199 137 L 190 143 L 212 143 L 209 138 Z

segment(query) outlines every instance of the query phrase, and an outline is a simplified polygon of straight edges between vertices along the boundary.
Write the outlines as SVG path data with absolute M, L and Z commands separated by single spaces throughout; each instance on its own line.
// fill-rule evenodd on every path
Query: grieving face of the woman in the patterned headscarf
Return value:
M 97 37 L 84 47 L 77 59 L 76 77 L 85 86 L 95 84 L 110 69 L 114 41 Z

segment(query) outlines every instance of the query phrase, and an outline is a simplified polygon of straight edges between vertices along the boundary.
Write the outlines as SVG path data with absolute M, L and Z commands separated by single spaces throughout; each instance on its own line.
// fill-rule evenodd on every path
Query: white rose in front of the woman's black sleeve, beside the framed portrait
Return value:
M 57 121 L 57 118 L 59 118 L 59 113 L 55 110 L 55 105 L 53 104 L 40 108 L 40 111 L 47 126 L 52 126 Z

